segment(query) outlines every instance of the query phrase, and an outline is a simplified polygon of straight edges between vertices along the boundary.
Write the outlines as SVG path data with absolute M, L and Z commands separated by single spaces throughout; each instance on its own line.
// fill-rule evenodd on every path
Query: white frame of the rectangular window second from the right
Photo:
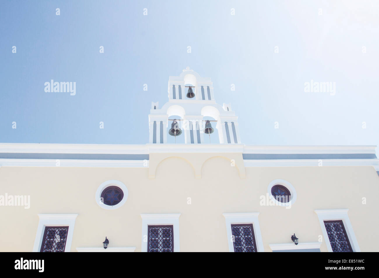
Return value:
M 229 252 L 234 252 L 234 245 L 232 241 L 232 224 L 253 224 L 255 244 L 257 244 L 257 252 L 265 252 L 265 248 L 263 248 L 262 234 L 259 227 L 258 214 L 258 212 L 222 214 L 225 217 Z

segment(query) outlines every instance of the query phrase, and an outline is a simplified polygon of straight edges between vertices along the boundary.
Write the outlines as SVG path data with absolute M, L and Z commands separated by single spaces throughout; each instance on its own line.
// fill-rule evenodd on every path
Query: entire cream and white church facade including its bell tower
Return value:
M 243 144 L 188 67 L 168 98 L 147 144 L 0 143 L 0 251 L 378 251 L 376 146 Z

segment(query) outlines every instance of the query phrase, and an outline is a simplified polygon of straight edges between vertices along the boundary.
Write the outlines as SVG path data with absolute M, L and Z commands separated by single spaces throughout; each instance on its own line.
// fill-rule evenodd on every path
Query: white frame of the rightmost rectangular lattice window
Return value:
M 343 226 L 345 227 L 345 231 L 346 231 L 346 234 L 348 235 L 348 239 L 349 239 L 353 252 L 360 252 L 358 241 L 354 234 L 353 227 L 351 225 L 351 222 L 348 216 L 348 210 L 349 209 L 315 210 L 315 213 L 317 214 L 318 220 L 320 222 L 321 231 L 323 231 L 324 241 L 326 243 L 328 252 L 333 252 L 332 245 L 330 245 L 329 237 L 328 237 L 325 224 L 324 224 L 324 221 L 329 221 L 329 220 L 342 220 Z

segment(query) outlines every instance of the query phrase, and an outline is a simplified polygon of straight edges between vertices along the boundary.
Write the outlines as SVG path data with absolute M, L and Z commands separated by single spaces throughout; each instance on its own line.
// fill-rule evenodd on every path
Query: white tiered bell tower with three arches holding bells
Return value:
M 168 81 L 168 102 L 161 108 L 158 103 L 151 103 L 149 114 L 149 143 L 165 144 L 172 125 L 172 116 L 176 116 L 179 128 L 184 135 L 185 144 L 201 144 L 208 137 L 204 128 L 206 120 L 204 117 L 211 117 L 210 121 L 213 129 L 218 130 L 218 140 L 214 142 L 220 144 L 240 144 L 240 130 L 238 128 L 237 116 L 229 104 L 222 106 L 217 104 L 213 94 L 211 79 L 200 77 L 200 75 L 189 67 L 185 68 L 179 76 L 170 76 Z M 188 94 L 192 89 L 194 96 Z M 212 137 L 212 134 L 210 134 Z

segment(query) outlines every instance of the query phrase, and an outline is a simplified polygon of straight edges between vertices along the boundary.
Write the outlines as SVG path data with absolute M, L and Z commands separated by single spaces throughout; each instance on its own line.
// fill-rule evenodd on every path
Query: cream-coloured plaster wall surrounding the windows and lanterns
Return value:
M 316 242 L 322 235 L 316 209 L 349 208 L 349 219 L 361 251 L 378 251 L 379 227 L 376 193 L 379 177 L 371 166 L 323 166 L 246 168 L 241 179 L 236 167 L 218 154 L 198 154 L 205 161 L 201 179 L 182 158 L 150 155 L 157 164 L 155 179 L 148 168 L 0 168 L 0 195 L 30 195 L 30 209 L 0 207 L 0 251 L 30 252 L 40 213 L 78 213 L 71 251 L 76 247 L 101 247 L 107 236 L 110 247 L 136 247 L 141 251 L 141 213 L 181 213 L 180 251 L 228 251 L 222 213 L 260 212 L 263 245 Z M 241 158 L 237 158 L 241 159 Z M 151 163 L 151 162 L 150 162 Z M 195 162 L 196 163 L 196 162 Z M 238 162 L 240 163 L 240 162 Z M 196 166 L 198 167 L 198 165 Z M 196 168 L 195 167 L 195 168 Z M 291 209 L 260 206 L 269 182 L 284 179 L 297 191 Z M 104 210 L 95 202 L 102 182 L 119 180 L 129 192 L 116 210 Z M 191 197 L 191 205 L 187 204 Z M 362 204 L 362 197 L 367 204 Z M 325 243 L 321 251 L 326 252 Z

